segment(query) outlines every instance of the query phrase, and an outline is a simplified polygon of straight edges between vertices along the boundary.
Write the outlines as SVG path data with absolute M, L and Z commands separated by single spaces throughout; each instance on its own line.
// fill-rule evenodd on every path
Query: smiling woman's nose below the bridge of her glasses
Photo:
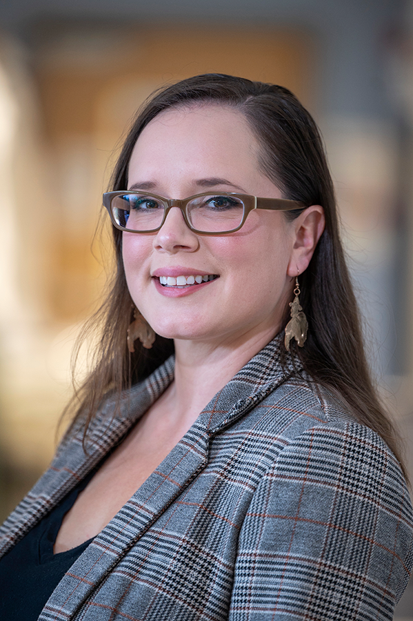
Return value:
M 165 222 L 154 237 L 155 250 L 172 255 L 194 252 L 199 248 L 199 237 L 185 223 L 179 207 L 171 207 Z

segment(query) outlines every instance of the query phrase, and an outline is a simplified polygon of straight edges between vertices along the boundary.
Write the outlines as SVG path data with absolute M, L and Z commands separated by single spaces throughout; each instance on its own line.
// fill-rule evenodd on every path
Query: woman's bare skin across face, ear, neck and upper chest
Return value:
M 132 152 L 128 188 L 181 199 L 212 190 L 281 198 L 259 168 L 259 143 L 241 113 L 194 105 L 161 113 Z M 294 279 L 324 228 L 311 206 L 288 222 L 255 210 L 241 230 L 197 235 L 172 208 L 161 230 L 123 233 L 123 263 L 134 303 L 159 335 L 173 338 L 175 380 L 68 512 L 55 552 L 103 529 L 192 426 L 212 397 L 284 327 Z M 218 275 L 207 284 L 165 290 L 159 275 Z

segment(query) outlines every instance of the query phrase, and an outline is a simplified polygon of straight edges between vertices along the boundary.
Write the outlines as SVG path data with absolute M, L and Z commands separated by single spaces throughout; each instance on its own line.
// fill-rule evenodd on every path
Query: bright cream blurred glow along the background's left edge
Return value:
M 0 343 L 2 462 L 38 472 L 54 444 L 63 391 L 50 383 L 45 304 L 50 239 L 42 148 L 30 110 L 20 51 L 3 41 L 0 55 Z M 4 59 L 7 58 L 7 63 Z M 10 61 L 11 59 L 11 61 Z

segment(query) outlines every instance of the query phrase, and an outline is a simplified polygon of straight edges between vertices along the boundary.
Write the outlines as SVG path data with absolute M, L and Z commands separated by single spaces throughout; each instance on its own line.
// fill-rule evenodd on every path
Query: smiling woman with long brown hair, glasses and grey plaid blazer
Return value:
M 314 121 L 193 77 L 143 106 L 112 188 L 97 367 L 3 525 L 1 618 L 391 619 L 412 507 Z

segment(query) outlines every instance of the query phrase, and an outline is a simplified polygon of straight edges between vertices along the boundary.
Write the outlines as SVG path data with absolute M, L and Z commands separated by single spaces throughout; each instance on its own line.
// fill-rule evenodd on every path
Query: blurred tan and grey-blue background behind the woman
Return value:
M 201 72 L 286 86 L 321 127 L 413 480 L 412 33 L 412 0 L 0 3 L 0 517 L 52 457 L 110 270 L 94 230 L 119 139 L 154 88 Z

